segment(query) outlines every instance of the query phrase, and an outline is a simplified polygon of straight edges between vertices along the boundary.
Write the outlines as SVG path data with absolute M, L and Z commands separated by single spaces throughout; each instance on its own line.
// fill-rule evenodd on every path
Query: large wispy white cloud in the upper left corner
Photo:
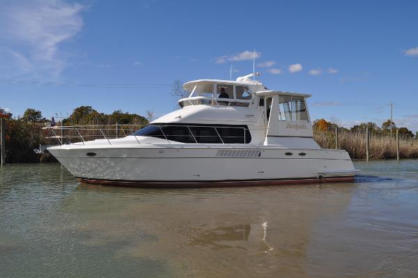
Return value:
M 83 6 L 61 0 L 10 1 L 0 8 L 0 59 L 15 74 L 59 76 L 67 63 L 60 45 L 82 29 Z M 8 54 L 12 54 L 8 56 Z M 0 65 L 0 70 L 5 70 Z

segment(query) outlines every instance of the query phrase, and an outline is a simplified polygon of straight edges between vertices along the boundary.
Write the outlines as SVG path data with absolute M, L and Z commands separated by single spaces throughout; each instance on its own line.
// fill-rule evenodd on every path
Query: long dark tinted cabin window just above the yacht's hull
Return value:
M 196 141 L 201 144 L 221 144 L 222 141 L 225 144 L 249 144 L 251 141 L 251 134 L 246 125 L 236 127 L 217 125 L 148 125 L 132 135 L 157 137 L 160 139 L 166 139 L 167 137 L 170 141 L 187 144 L 196 144 Z M 219 136 L 222 138 L 222 141 Z

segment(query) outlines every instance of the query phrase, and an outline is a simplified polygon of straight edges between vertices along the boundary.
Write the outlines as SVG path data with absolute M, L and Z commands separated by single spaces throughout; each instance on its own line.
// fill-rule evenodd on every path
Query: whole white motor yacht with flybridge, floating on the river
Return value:
M 180 109 L 118 139 L 47 148 L 82 183 L 141 187 L 277 185 L 353 180 L 346 150 L 313 139 L 304 93 L 254 74 L 183 86 Z

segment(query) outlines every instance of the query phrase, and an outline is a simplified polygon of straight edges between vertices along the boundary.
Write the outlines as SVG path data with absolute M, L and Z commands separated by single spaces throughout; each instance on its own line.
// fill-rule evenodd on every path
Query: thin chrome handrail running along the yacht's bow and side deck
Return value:
M 118 133 L 116 133 L 116 136 L 109 136 L 109 134 L 105 134 L 105 132 L 109 132 L 109 131 L 122 131 L 123 134 L 125 134 L 125 136 L 129 136 L 130 134 L 127 134 L 125 131 L 129 131 L 131 132 L 131 134 L 133 134 L 135 131 L 137 131 L 138 129 L 136 128 L 132 128 L 131 127 L 144 127 L 144 126 L 148 126 L 148 125 L 116 125 L 118 128 L 100 128 L 103 125 L 65 125 L 65 126 L 54 126 L 54 127 L 46 127 L 46 128 L 42 128 L 42 130 L 49 130 L 50 132 L 52 132 L 53 136 L 49 136 L 49 137 L 45 137 L 45 139 L 56 139 L 60 145 L 64 144 L 64 140 L 63 139 L 74 139 L 74 138 L 79 138 L 81 139 L 82 144 L 85 145 L 86 142 L 86 137 L 99 137 L 100 139 L 106 139 L 107 142 L 109 143 L 109 145 L 111 145 L 111 141 L 109 139 L 116 139 L 118 138 Z M 106 125 L 106 126 L 112 126 L 112 125 Z M 126 128 L 119 128 L 125 126 Z M 222 126 L 222 125 L 171 125 L 171 124 L 155 124 L 154 126 L 157 126 L 158 128 L 160 128 L 160 131 L 162 133 L 162 135 L 164 136 L 164 139 L 167 140 L 168 144 L 171 144 L 170 137 L 175 137 L 178 135 L 170 135 L 170 134 L 166 134 L 164 133 L 164 130 L 162 129 L 163 126 L 170 126 L 170 127 L 185 127 L 187 128 L 187 130 L 189 131 L 190 135 L 184 135 L 187 137 L 192 137 L 194 139 L 195 144 L 201 144 L 198 142 L 198 140 L 196 139 L 196 137 L 199 138 L 204 138 L 204 137 L 217 137 L 219 138 L 219 141 L 221 141 L 221 144 L 227 144 L 225 143 L 224 139 L 225 138 L 242 138 L 241 136 L 221 136 L 221 134 L 219 134 L 218 132 L 218 128 L 233 128 L 233 129 L 240 129 L 244 132 L 243 134 L 243 139 L 244 139 L 244 144 L 247 141 L 246 138 L 246 131 L 248 130 L 247 128 L 243 128 L 243 127 L 231 127 L 231 126 Z M 194 135 L 192 130 L 190 128 L 213 128 L 215 129 L 216 135 Z M 56 130 L 61 130 L 61 136 L 56 134 Z M 71 135 L 71 134 L 64 134 L 64 132 L 69 132 L 69 131 L 75 131 L 77 134 L 76 135 Z M 100 134 L 82 134 L 81 132 L 85 132 L 85 131 L 98 131 Z M 136 135 L 133 135 L 135 137 L 135 139 L 137 140 L 138 144 L 141 144 L 139 142 L 139 140 L 137 139 Z

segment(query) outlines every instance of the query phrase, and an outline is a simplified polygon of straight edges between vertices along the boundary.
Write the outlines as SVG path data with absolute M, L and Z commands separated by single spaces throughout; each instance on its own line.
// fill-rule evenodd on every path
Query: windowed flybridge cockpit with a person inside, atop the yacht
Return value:
M 254 102 L 254 91 L 259 83 L 243 84 L 239 82 L 222 82 L 216 80 L 198 80 L 187 82 L 184 88 L 189 92 L 188 98 L 178 101 L 180 107 L 189 105 L 212 105 L 249 107 Z

